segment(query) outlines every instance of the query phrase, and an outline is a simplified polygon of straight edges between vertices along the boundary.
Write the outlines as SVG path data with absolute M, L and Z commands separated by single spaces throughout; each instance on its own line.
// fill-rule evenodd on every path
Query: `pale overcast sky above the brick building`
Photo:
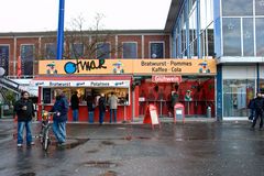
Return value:
M 1 0 L 0 32 L 57 30 L 59 0 Z M 82 16 L 86 26 L 103 14 L 102 29 L 163 30 L 172 0 L 65 0 L 65 28 Z

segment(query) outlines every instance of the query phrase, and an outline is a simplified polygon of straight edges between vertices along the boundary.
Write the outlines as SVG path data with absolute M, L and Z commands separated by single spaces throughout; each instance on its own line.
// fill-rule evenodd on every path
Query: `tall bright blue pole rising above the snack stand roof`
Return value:
M 57 29 L 57 59 L 63 59 L 64 53 L 64 4 L 65 0 L 59 0 L 58 29 Z

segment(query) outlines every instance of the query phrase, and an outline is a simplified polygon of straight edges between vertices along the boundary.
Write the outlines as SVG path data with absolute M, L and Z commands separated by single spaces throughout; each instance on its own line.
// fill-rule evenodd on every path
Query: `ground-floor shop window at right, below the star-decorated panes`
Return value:
M 254 79 L 223 80 L 223 116 L 248 117 L 248 105 L 255 95 Z

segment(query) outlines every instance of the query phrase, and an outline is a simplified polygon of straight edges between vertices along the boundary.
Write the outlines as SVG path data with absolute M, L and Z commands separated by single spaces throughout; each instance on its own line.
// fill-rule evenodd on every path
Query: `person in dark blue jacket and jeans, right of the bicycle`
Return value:
M 68 100 L 63 90 L 57 90 L 56 101 L 50 112 L 53 116 L 53 132 L 56 136 L 58 145 L 66 144 L 66 121 L 68 119 Z

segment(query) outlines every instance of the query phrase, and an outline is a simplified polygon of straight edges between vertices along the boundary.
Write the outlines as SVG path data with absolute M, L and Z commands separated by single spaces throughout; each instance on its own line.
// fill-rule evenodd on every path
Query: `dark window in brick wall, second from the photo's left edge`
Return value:
M 21 74 L 33 75 L 34 45 L 21 45 Z

